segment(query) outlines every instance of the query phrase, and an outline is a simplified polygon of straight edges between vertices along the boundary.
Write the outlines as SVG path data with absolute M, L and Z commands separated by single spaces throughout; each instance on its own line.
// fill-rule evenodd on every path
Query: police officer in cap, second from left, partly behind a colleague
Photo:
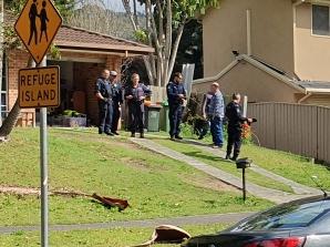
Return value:
M 117 72 L 110 71 L 110 82 L 112 89 L 112 102 L 113 102 L 113 114 L 112 114 L 112 126 L 111 132 L 115 135 L 117 133 L 118 121 L 121 119 L 121 105 L 123 104 L 123 89 L 122 84 L 116 81 Z

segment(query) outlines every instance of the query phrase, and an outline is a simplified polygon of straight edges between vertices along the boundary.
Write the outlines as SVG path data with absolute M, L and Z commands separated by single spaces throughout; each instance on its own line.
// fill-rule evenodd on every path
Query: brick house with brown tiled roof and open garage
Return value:
M 48 56 L 48 65 L 60 65 L 61 105 L 54 111 L 66 109 L 85 113 L 92 124 L 97 123 L 97 102 L 94 96 L 95 80 L 103 69 L 121 72 L 128 58 L 145 55 L 154 49 L 141 43 L 62 25 L 54 40 L 61 58 Z M 29 53 L 23 49 L 6 52 L 3 59 L 4 80 L 1 89 L 0 116 L 9 112 L 18 97 L 18 71 L 27 68 Z M 2 114 L 1 114 L 2 111 Z M 34 125 L 38 110 L 22 110 L 20 124 Z

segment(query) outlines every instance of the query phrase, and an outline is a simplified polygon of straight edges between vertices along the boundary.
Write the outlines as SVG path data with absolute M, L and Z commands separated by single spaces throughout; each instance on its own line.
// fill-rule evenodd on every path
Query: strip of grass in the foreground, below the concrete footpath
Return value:
M 192 236 L 214 234 L 227 225 L 184 226 Z M 125 247 L 142 244 L 152 236 L 152 228 L 117 228 L 102 230 L 51 231 L 50 245 L 54 247 Z M 0 247 L 8 246 L 40 246 L 40 236 L 37 233 L 19 231 L 11 235 L 0 235 Z M 179 245 L 153 245 L 155 247 L 178 247 Z

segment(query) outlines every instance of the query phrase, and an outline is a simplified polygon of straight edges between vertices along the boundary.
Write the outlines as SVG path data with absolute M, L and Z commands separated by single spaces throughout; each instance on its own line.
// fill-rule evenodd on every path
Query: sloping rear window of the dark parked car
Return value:
M 251 216 L 229 230 L 269 230 L 307 227 L 329 210 L 330 199 L 283 204 Z

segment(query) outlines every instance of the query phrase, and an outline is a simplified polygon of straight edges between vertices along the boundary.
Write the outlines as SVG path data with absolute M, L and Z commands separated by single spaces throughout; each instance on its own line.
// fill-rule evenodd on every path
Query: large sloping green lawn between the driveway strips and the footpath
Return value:
M 140 148 L 124 137 L 96 131 L 50 128 L 51 189 L 128 199 L 118 213 L 89 198 L 50 197 L 50 222 L 73 224 L 184 215 L 258 210 L 272 205 L 255 197 L 243 203 L 239 192 L 218 189 L 216 179 L 184 163 Z M 0 144 L 0 185 L 38 187 L 39 130 L 16 128 Z M 37 196 L 0 195 L 1 225 L 39 224 Z

